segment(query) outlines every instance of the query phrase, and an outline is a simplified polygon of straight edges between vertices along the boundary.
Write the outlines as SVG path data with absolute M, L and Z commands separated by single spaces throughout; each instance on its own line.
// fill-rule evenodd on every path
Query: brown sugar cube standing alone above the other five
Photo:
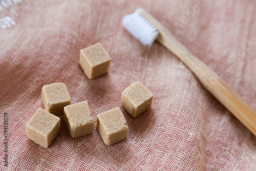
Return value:
M 79 64 L 89 79 L 96 78 L 109 71 L 111 58 L 98 42 L 80 50 Z

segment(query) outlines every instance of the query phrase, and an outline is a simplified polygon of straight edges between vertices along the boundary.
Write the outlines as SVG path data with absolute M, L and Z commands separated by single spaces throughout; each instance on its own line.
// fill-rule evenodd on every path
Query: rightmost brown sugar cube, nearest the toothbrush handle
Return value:
M 122 92 L 123 108 L 135 118 L 150 108 L 152 100 L 153 93 L 139 81 Z

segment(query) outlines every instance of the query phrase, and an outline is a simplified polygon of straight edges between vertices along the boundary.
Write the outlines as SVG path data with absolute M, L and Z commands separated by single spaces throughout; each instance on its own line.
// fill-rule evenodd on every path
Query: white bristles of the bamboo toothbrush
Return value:
M 122 19 L 122 25 L 143 45 L 150 47 L 159 34 L 157 28 L 139 13 L 125 15 Z

